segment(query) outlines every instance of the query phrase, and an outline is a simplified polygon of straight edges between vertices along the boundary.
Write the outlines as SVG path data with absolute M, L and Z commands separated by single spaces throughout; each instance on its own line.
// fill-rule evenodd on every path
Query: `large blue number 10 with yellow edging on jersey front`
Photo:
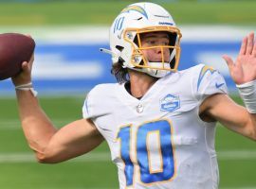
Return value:
M 119 129 L 117 139 L 120 140 L 120 158 L 125 164 L 124 174 L 126 186 L 134 184 L 135 167 L 131 159 L 131 125 Z M 152 172 L 149 161 L 147 136 L 156 132 L 159 135 L 159 154 L 161 155 L 162 168 Z M 156 181 L 166 181 L 174 178 L 174 147 L 172 145 L 172 125 L 168 120 L 157 120 L 140 125 L 136 134 L 136 154 L 139 165 L 140 180 L 145 184 Z

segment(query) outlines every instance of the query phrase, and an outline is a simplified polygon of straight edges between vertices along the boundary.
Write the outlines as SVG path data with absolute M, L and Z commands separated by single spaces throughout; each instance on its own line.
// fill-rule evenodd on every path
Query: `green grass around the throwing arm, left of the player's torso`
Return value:
M 82 117 L 82 97 L 47 97 L 40 101 L 56 126 Z M 85 159 L 36 163 L 20 128 L 15 99 L 0 97 L 0 106 L 0 188 L 118 188 L 116 167 L 110 161 L 106 144 Z

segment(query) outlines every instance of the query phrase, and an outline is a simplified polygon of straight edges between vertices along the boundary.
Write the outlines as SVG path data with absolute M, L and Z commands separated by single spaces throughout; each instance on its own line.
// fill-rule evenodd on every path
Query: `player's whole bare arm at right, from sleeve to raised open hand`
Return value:
M 256 140 L 256 41 L 251 32 L 244 38 L 235 61 L 224 55 L 229 73 L 247 108 L 234 103 L 226 94 L 207 98 L 200 110 L 227 128 Z

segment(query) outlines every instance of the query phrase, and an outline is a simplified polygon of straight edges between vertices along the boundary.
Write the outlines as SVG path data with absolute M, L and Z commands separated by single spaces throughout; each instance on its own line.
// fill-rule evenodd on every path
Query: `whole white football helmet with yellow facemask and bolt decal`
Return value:
M 140 35 L 147 32 L 165 31 L 170 36 L 169 45 L 151 46 L 160 48 L 162 60 L 151 62 L 143 56 Z M 181 33 L 170 13 L 154 3 L 136 3 L 123 9 L 110 27 L 110 48 L 113 64 L 122 63 L 123 68 L 144 72 L 152 77 L 164 77 L 175 71 L 180 55 Z M 170 49 L 169 62 L 163 58 L 163 49 Z M 103 51 L 107 51 L 101 49 Z

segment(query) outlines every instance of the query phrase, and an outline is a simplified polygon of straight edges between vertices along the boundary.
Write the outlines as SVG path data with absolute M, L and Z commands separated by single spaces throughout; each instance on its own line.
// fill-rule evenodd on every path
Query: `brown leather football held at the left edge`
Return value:
M 26 35 L 0 34 L 0 80 L 17 75 L 22 62 L 30 60 L 34 48 L 34 40 Z

